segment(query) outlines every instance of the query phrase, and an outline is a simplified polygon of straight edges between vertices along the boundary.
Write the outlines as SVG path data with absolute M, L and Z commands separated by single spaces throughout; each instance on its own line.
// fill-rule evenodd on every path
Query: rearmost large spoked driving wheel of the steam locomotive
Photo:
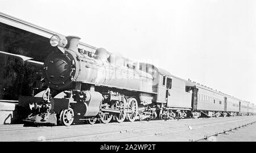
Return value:
M 136 120 L 137 112 L 138 112 L 138 103 L 134 97 L 129 99 L 128 112 L 129 112 L 129 113 L 127 113 L 128 121 L 134 122 Z

